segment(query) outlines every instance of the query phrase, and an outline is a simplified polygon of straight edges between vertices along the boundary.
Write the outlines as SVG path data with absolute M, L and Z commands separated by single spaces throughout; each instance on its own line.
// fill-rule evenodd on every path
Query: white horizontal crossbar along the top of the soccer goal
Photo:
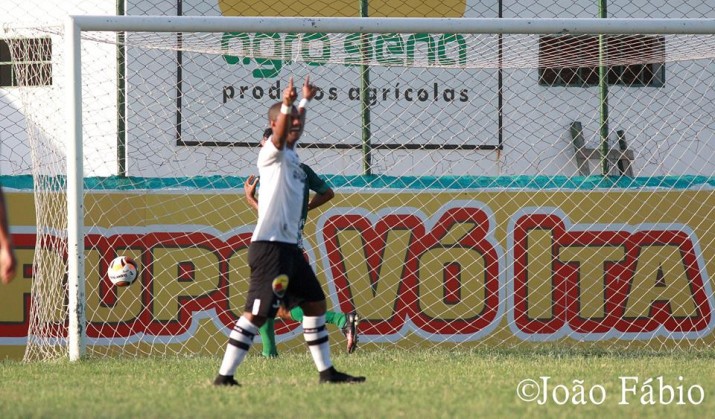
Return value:
M 715 33 L 715 19 L 586 18 L 356 18 L 223 16 L 70 16 L 82 31 L 302 32 L 468 34 L 689 34 Z

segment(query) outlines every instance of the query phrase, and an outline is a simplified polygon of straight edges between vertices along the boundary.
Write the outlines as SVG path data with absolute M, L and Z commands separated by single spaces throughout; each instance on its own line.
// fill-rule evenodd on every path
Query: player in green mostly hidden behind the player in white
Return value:
M 305 109 L 298 108 L 298 112 L 301 118 L 305 118 Z M 263 138 L 261 139 L 261 146 L 263 143 L 270 138 L 273 134 L 270 128 L 267 128 L 263 132 Z M 305 163 L 301 163 L 300 166 L 305 171 L 307 175 L 306 184 L 303 194 L 303 210 L 301 212 L 301 237 L 298 239 L 298 246 L 303 249 L 302 246 L 302 236 L 303 227 L 305 226 L 305 221 L 308 218 L 308 211 L 325 204 L 326 202 L 333 199 L 335 193 L 328 186 L 323 179 L 321 179 L 314 171 Z M 256 186 L 258 185 L 258 178 L 256 176 L 249 176 L 246 182 L 243 184 L 244 192 L 246 193 L 246 201 L 254 209 L 258 210 L 258 200 L 256 199 Z M 314 191 L 313 199 L 310 199 L 310 191 Z M 303 252 L 306 260 L 308 256 Z M 303 310 L 300 307 L 293 307 L 290 310 L 281 306 L 278 308 L 278 317 L 287 321 L 303 321 Z M 347 351 L 348 353 L 353 353 L 357 348 L 358 343 L 358 316 L 357 313 L 341 313 L 328 310 L 325 313 L 326 323 L 333 324 L 340 328 L 345 335 L 347 341 Z M 267 358 L 272 358 L 278 356 L 278 348 L 276 347 L 276 335 L 275 335 L 275 319 L 268 319 L 266 323 L 259 329 L 261 334 L 261 341 L 263 342 L 263 356 Z

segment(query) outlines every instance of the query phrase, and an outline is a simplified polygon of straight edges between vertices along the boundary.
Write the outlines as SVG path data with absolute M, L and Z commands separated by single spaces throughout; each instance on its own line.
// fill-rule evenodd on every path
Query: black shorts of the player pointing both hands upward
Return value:
M 248 266 L 251 280 L 245 310 L 254 316 L 270 318 L 281 305 L 290 309 L 304 301 L 325 300 L 313 268 L 297 245 L 251 242 Z

